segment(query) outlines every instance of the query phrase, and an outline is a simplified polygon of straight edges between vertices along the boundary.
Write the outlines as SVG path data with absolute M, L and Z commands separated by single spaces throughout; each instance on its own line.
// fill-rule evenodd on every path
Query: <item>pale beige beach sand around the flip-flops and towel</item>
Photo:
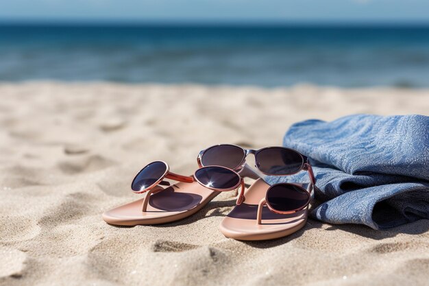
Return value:
M 163 226 L 101 213 L 151 160 L 191 174 L 215 143 L 280 145 L 310 118 L 429 115 L 429 90 L 0 84 L 0 285 L 428 285 L 429 221 L 389 231 L 310 219 L 290 237 L 241 242 L 218 230 L 223 193 Z

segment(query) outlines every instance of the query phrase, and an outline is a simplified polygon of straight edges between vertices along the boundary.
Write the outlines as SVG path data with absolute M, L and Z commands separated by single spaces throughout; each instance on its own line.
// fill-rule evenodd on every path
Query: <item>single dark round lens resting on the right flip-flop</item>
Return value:
M 267 192 L 267 203 L 277 211 L 293 211 L 308 202 L 310 194 L 293 184 L 278 184 Z

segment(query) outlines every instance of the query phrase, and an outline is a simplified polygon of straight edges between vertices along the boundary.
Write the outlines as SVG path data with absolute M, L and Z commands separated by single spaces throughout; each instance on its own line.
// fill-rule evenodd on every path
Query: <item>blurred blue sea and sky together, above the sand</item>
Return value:
M 429 1 L 16 0 L 0 81 L 429 86 Z

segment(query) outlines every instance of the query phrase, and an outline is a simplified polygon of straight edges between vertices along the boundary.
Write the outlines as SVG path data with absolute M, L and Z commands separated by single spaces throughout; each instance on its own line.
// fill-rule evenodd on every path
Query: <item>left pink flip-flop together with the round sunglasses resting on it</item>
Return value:
M 164 178 L 178 180 L 167 188 Z M 134 178 L 134 193 L 145 193 L 145 198 L 103 213 L 108 224 L 136 226 L 138 224 L 165 224 L 193 215 L 206 206 L 221 191 L 241 187 L 238 203 L 243 199 L 244 181 L 231 169 L 209 166 L 197 169 L 193 176 L 181 176 L 169 171 L 162 161 L 150 163 Z

